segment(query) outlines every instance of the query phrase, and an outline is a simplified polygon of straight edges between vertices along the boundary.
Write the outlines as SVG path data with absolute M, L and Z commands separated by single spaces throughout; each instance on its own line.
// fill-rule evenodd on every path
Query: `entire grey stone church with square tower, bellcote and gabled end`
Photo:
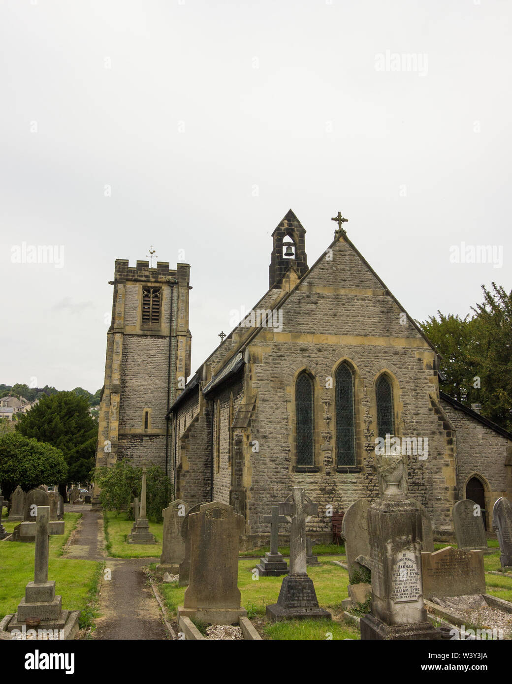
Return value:
M 376 444 L 394 438 L 437 538 L 452 538 L 452 506 L 465 498 L 492 531 L 494 502 L 512 498 L 512 434 L 439 390 L 433 345 L 346 219 L 333 220 L 309 267 L 305 228 L 287 212 L 268 291 L 186 384 L 190 266 L 116 261 L 97 464 L 153 462 L 177 499 L 233 505 L 250 549 L 268 543 L 263 516 L 293 486 L 318 503 L 308 533 L 329 542 L 333 513 L 378 494 Z

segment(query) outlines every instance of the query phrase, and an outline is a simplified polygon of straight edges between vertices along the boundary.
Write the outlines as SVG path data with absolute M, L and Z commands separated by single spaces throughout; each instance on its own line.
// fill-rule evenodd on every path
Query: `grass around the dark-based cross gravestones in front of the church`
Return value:
M 242 594 L 242 607 L 247 609 L 248 617 L 255 620 L 258 629 L 268 639 L 275 640 L 325 640 L 359 639 L 359 629 L 342 622 L 341 603 L 348 597 L 348 573 L 340 566 L 333 564 L 337 556 L 322 558 L 321 566 L 311 566 L 307 574 L 315 584 L 318 603 L 333 613 L 333 622 L 329 620 L 287 620 L 284 623 L 270 624 L 265 621 L 266 605 L 276 603 L 281 589 L 283 577 L 257 577 L 253 571 L 257 561 L 241 558 L 238 563 L 238 588 Z M 185 587 L 175 583 L 161 583 L 159 590 L 164 597 L 171 620 L 176 619 L 177 607 L 183 605 Z M 338 621 L 340 620 L 340 621 Z M 326 624 L 331 627 L 327 629 Z

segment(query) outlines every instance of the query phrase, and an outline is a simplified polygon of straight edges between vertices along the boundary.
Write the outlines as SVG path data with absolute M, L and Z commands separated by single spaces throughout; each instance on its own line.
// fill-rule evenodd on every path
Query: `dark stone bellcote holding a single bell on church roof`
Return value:
M 291 276 L 292 272 L 295 282 L 307 272 L 305 235 L 305 228 L 290 209 L 272 233 L 274 244 L 268 268 L 269 289 L 283 289 L 285 277 Z

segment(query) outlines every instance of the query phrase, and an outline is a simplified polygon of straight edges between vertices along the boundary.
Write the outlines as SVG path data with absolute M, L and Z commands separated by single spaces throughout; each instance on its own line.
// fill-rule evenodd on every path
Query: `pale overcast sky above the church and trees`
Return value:
M 114 260 L 150 245 L 191 265 L 194 372 L 290 207 L 309 265 L 341 211 L 416 319 L 510 291 L 511 10 L 3 0 L 0 382 L 101 387 Z M 461 241 L 494 263 L 450 263 Z

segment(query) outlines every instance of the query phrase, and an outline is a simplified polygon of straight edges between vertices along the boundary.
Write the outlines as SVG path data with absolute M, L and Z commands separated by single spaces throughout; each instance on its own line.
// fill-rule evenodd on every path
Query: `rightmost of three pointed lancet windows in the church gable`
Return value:
M 355 466 L 354 376 L 346 363 L 335 375 L 336 464 Z

